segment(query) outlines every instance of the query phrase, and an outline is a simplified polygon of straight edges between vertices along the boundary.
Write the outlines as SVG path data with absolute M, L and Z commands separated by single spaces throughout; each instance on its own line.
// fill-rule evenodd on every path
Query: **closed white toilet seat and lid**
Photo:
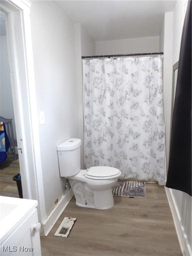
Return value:
M 85 177 L 94 180 L 107 180 L 119 177 L 120 171 L 109 166 L 93 166 L 88 169 Z

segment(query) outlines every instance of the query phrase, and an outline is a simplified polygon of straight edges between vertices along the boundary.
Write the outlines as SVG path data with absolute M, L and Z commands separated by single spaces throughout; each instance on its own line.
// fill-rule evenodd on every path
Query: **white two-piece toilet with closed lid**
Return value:
M 80 139 L 68 139 L 57 146 L 60 176 L 68 178 L 76 205 L 94 209 L 114 206 L 112 186 L 121 171 L 108 166 L 80 169 Z

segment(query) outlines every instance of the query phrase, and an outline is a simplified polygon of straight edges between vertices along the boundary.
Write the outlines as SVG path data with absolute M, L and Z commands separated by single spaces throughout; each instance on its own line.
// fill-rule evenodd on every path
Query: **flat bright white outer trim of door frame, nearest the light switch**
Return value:
M 37 101 L 35 91 L 35 75 L 33 65 L 33 50 L 32 50 L 32 36 L 31 36 L 31 18 L 30 13 L 23 13 L 23 35 L 25 40 L 25 57 L 26 57 L 26 68 L 27 68 L 27 79 L 28 79 L 28 93 L 29 93 L 29 108 L 30 108 L 30 132 L 32 140 L 32 151 L 33 151 L 33 164 L 34 164 L 34 177 L 35 184 L 31 184 L 36 190 L 37 200 L 39 202 L 39 210 L 41 221 L 46 217 L 45 211 L 45 196 L 43 186 L 43 173 L 41 165 L 41 152 L 40 152 L 40 139 L 39 139 L 39 116 L 37 112 Z M 36 124 L 36 125 L 34 125 Z

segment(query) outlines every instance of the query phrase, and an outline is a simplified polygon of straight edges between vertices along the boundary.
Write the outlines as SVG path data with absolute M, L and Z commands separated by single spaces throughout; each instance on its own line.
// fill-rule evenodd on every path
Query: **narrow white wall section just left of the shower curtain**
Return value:
M 82 78 L 82 60 L 81 56 L 95 55 L 95 41 L 89 33 L 81 26 L 75 24 L 76 38 L 76 76 L 77 76 L 77 94 L 78 94 L 78 124 L 79 138 L 81 139 L 81 168 L 83 169 L 84 159 L 84 117 L 83 117 L 83 78 Z

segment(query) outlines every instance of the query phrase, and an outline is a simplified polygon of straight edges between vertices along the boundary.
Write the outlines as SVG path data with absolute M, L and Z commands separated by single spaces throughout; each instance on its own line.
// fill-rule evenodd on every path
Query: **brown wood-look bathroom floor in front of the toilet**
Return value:
M 73 197 L 47 237 L 42 255 L 182 255 L 165 189 L 146 184 L 146 198 L 114 197 L 109 210 L 78 207 Z M 77 218 L 68 238 L 54 236 L 64 217 Z

